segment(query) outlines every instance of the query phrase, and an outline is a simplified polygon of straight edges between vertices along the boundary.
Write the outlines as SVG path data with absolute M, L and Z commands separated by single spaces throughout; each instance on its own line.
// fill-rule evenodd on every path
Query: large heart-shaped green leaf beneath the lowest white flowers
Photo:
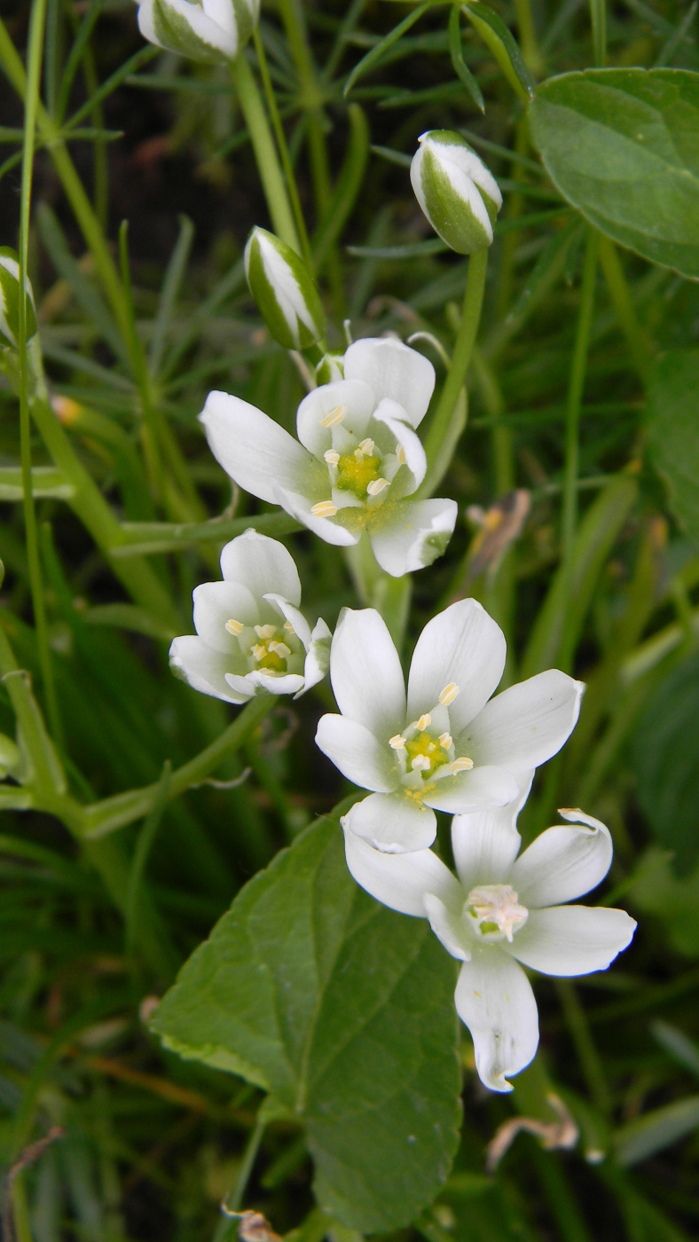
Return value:
M 457 1144 L 453 964 L 426 920 L 379 905 L 320 820 L 241 891 L 184 966 L 153 1028 L 241 1074 L 305 1125 L 320 1207 L 400 1228 Z

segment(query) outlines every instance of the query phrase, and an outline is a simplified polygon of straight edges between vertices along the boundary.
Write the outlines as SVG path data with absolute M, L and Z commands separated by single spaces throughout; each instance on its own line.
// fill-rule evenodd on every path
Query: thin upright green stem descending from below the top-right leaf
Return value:
M 582 267 L 582 286 L 580 291 L 580 309 L 577 314 L 577 329 L 575 334 L 566 405 L 564 503 L 561 514 L 561 560 L 566 580 L 566 590 L 564 592 L 564 606 L 566 609 L 570 605 L 570 592 L 572 589 L 575 529 L 577 524 L 580 406 L 582 404 L 585 371 L 587 369 L 587 347 L 590 344 L 590 328 L 592 324 L 592 310 L 595 306 L 598 237 L 600 235 L 596 229 L 587 229 L 585 262 Z

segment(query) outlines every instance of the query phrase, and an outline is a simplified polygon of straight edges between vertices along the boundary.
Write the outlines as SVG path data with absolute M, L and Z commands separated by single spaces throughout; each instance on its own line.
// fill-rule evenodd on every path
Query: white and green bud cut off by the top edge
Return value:
M 194 61 L 235 61 L 259 16 L 259 0 L 143 0 L 138 25 L 156 47 Z

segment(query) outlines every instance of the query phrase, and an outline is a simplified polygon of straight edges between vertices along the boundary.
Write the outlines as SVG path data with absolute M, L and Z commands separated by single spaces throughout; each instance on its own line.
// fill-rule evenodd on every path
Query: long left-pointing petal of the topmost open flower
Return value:
M 199 417 L 216 461 L 261 501 L 277 504 L 278 488 L 303 494 L 323 476 L 320 462 L 288 431 L 237 396 L 210 392 Z

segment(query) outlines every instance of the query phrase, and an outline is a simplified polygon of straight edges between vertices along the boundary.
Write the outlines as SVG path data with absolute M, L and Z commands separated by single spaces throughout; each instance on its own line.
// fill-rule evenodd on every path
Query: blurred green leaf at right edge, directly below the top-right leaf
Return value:
M 699 349 L 673 350 L 656 364 L 648 391 L 648 455 L 664 478 L 670 508 L 699 543 Z

